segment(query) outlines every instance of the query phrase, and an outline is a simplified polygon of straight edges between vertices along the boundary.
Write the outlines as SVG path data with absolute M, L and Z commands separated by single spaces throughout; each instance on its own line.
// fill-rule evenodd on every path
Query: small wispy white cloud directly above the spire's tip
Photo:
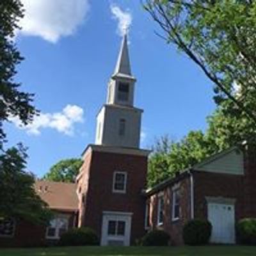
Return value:
M 118 20 L 118 35 L 123 36 L 127 29 L 132 24 L 132 15 L 129 10 L 123 11 L 118 5 L 111 4 L 110 10 L 113 15 L 113 19 Z

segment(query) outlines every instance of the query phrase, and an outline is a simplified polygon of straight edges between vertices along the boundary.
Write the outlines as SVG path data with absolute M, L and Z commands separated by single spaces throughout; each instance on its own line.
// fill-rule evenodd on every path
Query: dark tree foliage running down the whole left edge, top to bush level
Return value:
M 0 218 L 47 224 L 51 211 L 36 195 L 33 175 L 25 171 L 26 150 L 22 145 L 8 150 L 3 147 L 3 122 L 17 116 L 26 125 L 37 113 L 31 105 L 33 94 L 21 92 L 20 83 L 14 80 L 16 67 L 23 58 L 13 38 L 23 12 L 20 0 L 0 1 Z

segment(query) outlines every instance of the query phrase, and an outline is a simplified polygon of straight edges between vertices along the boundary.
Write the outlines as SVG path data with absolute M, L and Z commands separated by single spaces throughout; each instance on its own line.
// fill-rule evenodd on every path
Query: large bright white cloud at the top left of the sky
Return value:
M 61 36 L 72 35 L 83 23 L 88 0 L 22 0 L 24 19 L 18 34 L 40 36 L 56 43 Z

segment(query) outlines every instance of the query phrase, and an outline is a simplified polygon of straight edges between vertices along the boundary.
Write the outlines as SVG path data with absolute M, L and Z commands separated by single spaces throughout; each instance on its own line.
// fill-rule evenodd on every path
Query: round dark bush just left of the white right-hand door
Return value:
M 183 240 L 188 245 L 204 245 L 209 243 L 212 225 L 207 220 L 191 220 L 183 227 Z

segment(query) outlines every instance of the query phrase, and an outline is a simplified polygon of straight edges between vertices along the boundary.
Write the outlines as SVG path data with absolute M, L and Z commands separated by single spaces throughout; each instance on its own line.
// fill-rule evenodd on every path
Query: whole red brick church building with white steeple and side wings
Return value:
M 93 228 L 103 246 L 136 244 L 154 229 L 180 245 L 184 224 L 193 219 L 211 221 L 211 243 L 237 243 L 237 221 L 256 218 L 255 145 L 228 148 L 145 190 L 150 151 L 140 148 L 143 110 L 134 106 L 135 89 L 125 35 L 76 183 L 37 180 L 36 193 L 54 219 L 42 227 L 2 218 L 0 246 L 58 244 L 74 227 Z

